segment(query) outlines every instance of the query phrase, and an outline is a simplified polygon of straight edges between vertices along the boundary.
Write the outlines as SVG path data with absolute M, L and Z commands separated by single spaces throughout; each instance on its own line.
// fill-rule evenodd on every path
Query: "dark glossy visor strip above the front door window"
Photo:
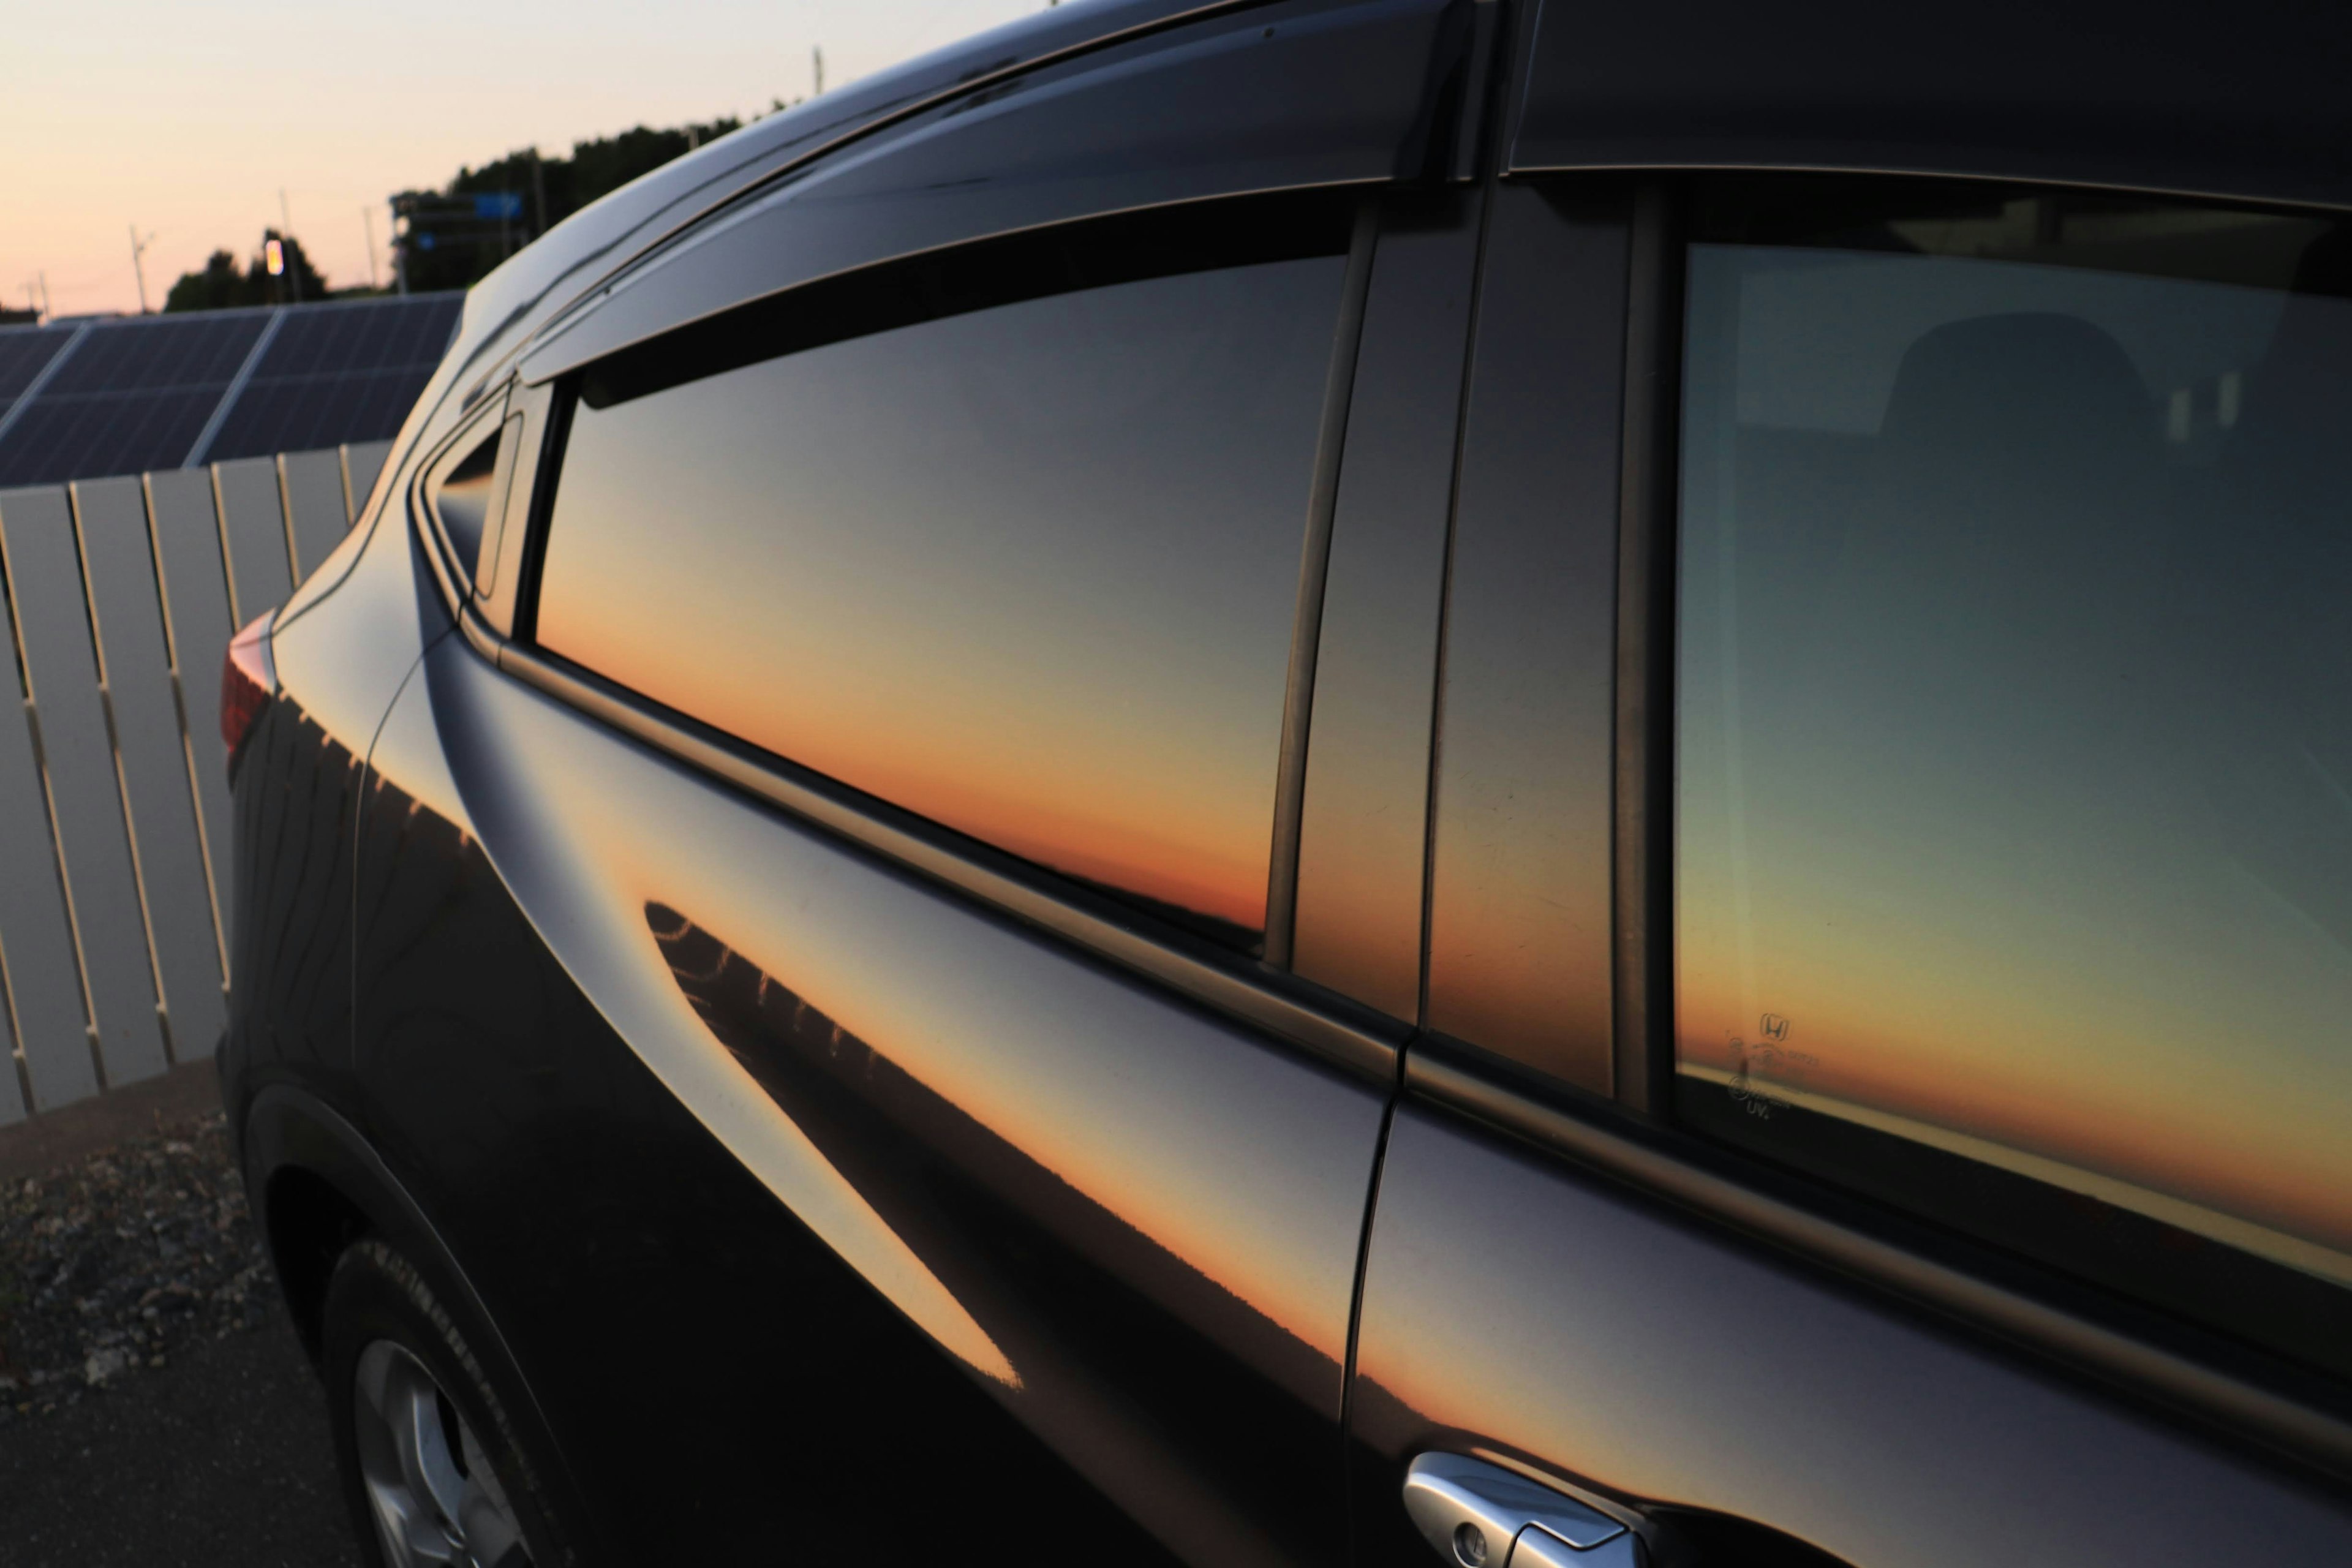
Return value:
M 1811 167 L 2352 205 L 2326 0 L 1550 0 L 1512 169 Z

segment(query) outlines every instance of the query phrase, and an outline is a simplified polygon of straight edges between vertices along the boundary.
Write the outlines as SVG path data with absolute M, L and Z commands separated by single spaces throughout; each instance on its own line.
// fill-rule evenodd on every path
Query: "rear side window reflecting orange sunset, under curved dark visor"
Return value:
M 590 367 L 539 642 L 1254 947 L 1348 209 L 1152 223 Z

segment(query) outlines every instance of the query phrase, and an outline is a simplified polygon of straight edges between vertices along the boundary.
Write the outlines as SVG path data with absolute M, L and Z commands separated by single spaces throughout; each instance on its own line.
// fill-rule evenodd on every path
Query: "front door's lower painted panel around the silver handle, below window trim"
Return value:
M 1428 1448 L 1856 1568 L 2317 1566 L 2352 1530 L 2258 1460 L 1416 1105 L 1381 1175 L 1355 1443 L 1367 1563 L 1399 1568 L 1430 1561 L 1395 1502 Z

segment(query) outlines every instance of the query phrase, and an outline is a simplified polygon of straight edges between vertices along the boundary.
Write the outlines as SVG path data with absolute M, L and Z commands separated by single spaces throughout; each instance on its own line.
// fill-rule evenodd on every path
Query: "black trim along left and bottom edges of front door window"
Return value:
M 2352 1399 L 2326 1373 L 1672 1121 L 1675 482 L 1682 463 L 1684 212 L 1689 186 L 1703 174 L 1710 172 L 1675 169 L 1642 183 L 1628 256 L 1613 644 L 1613 1093 L 1559 1084 L 1428 1030 L 1416 1032 L 1404 1053 L 1404 1091 L 1738 1237 L 1926 1307 L 2004 1349 L 2089 1375 L 2164 1418 L 2190 1418 L 2270 1465 L 2288 1462 L 2336 1486 L 2352 1481 Z M 1526 183 L 1562 179 L 1590 176 L 1536 174 Z

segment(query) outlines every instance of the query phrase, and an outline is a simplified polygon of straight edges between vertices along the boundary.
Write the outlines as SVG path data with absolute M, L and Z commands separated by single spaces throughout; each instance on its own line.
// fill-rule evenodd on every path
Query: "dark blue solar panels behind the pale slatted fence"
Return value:
M 0 487 L 376 442 L 463 294 L 0 329 Z

